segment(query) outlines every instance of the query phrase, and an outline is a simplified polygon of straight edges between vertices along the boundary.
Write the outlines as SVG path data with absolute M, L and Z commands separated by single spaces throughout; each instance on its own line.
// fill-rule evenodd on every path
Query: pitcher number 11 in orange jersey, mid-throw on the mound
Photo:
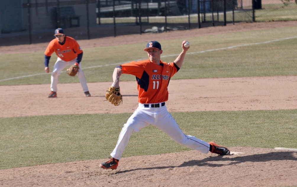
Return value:
M 101 163 L 103 169 L 117 169 L 119 160 L 126 148 L 132 133 L 147 127 L 149 124 L 166 133 L 177 143 L 198 150 L 202 153 L 213 152 L 219 155 L 228 155 L 228 148 L 219 146 L 214 142 L 205 142 L 195 136 L 185 135 L 178 127 L 178 124 L 168 113 L 165 101 L 168 100 L 168 84 L 171 77 L 181 68 L 186 52 L 190 47 L 185 47 L 183 41 L 182 52 L 171 63 L 165 63 L 160 60 L 162 49 L 157 41 L 147 43 L 144 51 L 147 52 L 149 59 L 138 62 L 124 63 L 115 68 L 113 72 L 113 84 L 106 94 L 106 99 L 112 104 L 118 106 L 121 102 L 119 89 L 119 77 L 121 74 L 132 74 L 136 76 L 138 89 L 138 108 L 130 116 L 127 123 L 121 130 L 116 147 L 110 154 L 111 159 Z M 112 89 L 111 89 L 112 88 Z M 120 99 L 119 99 L 120 98 Z

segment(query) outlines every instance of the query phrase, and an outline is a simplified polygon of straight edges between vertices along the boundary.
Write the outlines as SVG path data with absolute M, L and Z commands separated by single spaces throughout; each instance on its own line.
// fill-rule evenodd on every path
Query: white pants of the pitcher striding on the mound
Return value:
M 161 103 L 160 103 L 161 106 Z M 132 133 L 138 132 L 140 129 L 147 127 L 149 124 L 154 125 L 158 129 L 166 133 L 170 138 L 185 147 L 198 150 L 202 153 L 208 153 L 210 145 L 194 136 L 185 135 L 178 124 L 167 111 L 166 105 L 159 108 L 144 107 L 144 104 L 138 105 L 132 116 L 121 130 L 116 147 L 110 154 L 113 158 L 120 159 L 124 149 Z

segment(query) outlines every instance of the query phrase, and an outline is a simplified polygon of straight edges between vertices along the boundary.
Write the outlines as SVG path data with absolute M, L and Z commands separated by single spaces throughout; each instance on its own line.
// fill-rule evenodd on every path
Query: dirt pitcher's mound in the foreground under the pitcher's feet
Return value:
M 116 170 L 102 160 L 0 170 L 0 186 L 296 186 L 297 152 L 231 147 L 240 155 L 198 151 L 122 158 Z

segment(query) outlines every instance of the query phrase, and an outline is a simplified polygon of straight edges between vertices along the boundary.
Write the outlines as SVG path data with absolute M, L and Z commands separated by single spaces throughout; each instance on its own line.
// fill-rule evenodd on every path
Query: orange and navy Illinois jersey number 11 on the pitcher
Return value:
M 136 76 L 138 89 L 138 102 L 160 103 L 168 100 L 168 84 L 170 78 L 179 70 L 175 63 L 164 63 L 160 65 L 141 60 L 121 65 L 122 73 Z

